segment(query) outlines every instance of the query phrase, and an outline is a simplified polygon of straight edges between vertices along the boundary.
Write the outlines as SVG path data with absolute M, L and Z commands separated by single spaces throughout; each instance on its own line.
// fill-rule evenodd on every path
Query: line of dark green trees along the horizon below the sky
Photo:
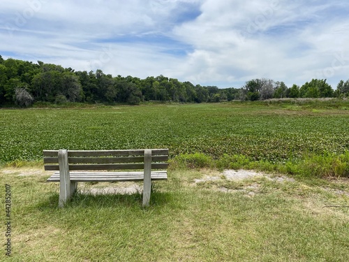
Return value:
M 128 103 L 172 101 L 203 103 L 219 101 L 256 101 L 280 98 L 321 98 L 349 96 L 349 80 L 341 80 L 336 90 L 326 80 L 313 79 L 302 87 L 287 87 L 271 79 L 249 80 L 240 88 L 219 89 L 216 86 L 193 85 L 163 75 L 140 79 L 128 75 L 112 76 L 100 69 L 75 71 L 55 64 L 0 55 L 0 105 L 28 106 L 47 103 Z

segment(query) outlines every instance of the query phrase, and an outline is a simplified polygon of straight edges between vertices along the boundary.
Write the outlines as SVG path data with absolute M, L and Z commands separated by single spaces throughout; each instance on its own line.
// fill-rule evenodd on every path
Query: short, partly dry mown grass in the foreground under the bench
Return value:
M 77 194 L 59 209 L 49 175 L 0 169 L 0 194 L 9 184 L 12 201 L 6 261 L 349 261 L 348 180 L 195 184 L 220 174 L 176 169 L 154 183 L 149 208 L 139 194 Z M 3 203 L 0 212 L 4 219 Z

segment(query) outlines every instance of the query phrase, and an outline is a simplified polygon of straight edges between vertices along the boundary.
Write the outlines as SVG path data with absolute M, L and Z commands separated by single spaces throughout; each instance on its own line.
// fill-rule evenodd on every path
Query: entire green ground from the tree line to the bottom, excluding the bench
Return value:
M 349 261 L 348 109 L 332 101 L 1 109 L 6 261 Z M 57 207 L 42 150 L 147 147 L 171 157 L 149 208 L 140 194 L 82 193 L 119 183 L 80 183 Z M 272 175 L 234 181 L 225 168 Z M 8 211 L 2 201 L 0 261 Z

